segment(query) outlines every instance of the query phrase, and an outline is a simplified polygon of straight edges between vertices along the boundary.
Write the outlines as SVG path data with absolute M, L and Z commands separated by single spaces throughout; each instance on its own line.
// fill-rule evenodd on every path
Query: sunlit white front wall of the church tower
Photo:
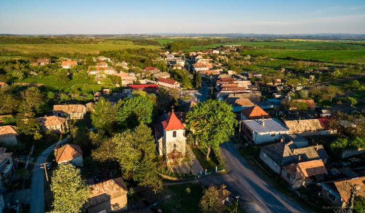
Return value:
M 173 131 L 176 131 L 176 137 L 172 137 Z M 164 155 L 171 153 L 174 149 L 174 144 L 176 145 L 176 150 L 182 152 L 183 154 L 186 152 L 186 137 L 184 136 L 185 129 L 177 129 L 177 130 L 164 130 Z

